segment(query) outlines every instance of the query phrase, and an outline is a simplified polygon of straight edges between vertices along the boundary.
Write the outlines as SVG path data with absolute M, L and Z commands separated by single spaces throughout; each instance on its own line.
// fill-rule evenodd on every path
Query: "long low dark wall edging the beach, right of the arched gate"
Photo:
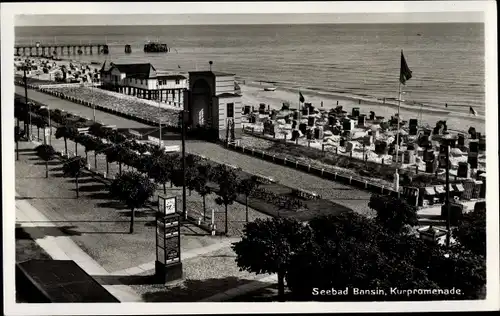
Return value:
M 265 161 L 269 161 L 278 165 L 283 165 L 287 166 L 289 168 L 297 169 L 303 172 L 307 172 L 313 175 L 316 175 L 318 177 L 327 179 L 327 180 L 332 180 L 332 181 L 337 181 L 343 184 L 351 185 L 354 187 L 357 187 L 359 189 L 367 190 L 373 193 L 379 193 L 379 194 L 390 194 L 397 196 L 397 192 L 394 191 L 392 188 L 384 186 L 384 185 L 379 185 L 375 183 L 371 183 L 367 180 L 353 177 L 353 176 L 346 176 L 342 175 L 338 172 L 331 172 L 325 169 L 320 169 L 311 165 L 305 165 L 297 160 L 290 160 L 288 158 L 280 157 L 279 155 L 275 154 L 269 154 L 266 153 L 265 151 L 262 150 L 255 150 L 253 148 L 246 148 L 244 146 L 236 145 L 236 144 L 227 144 L 226 148 L 232 149 L 237 152 L 244 153 L 249 156 L 253 156 Z

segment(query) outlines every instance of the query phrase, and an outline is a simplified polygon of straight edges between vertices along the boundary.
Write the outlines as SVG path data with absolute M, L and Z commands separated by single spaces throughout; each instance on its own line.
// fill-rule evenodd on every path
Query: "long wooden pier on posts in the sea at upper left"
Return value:
M 107 44 L 39 44 L 36 45 L 14 45 L 16 56 L 63 56 L 63 55 L 107 55 L 109 47 Z

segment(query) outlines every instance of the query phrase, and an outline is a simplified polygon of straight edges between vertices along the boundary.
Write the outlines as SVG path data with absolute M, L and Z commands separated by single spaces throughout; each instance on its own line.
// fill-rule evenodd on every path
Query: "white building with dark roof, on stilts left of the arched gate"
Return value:
M 100 73 L 103 89 L 179 107 L 184 104 L 183 91 L 188 87 L 188 80 L 182 74 L 156 70 L 150 63 L 111 62 L 105 62 Z

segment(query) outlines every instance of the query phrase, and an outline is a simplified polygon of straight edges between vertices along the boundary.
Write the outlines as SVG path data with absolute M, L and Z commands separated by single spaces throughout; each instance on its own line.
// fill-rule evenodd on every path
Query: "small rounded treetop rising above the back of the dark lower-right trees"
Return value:
M 417 208 L 405 200 L 374 194 L 368 206 L 377 212 L 377 222 L 391 231 L 404 233 L 407 225 L 418 224 Z

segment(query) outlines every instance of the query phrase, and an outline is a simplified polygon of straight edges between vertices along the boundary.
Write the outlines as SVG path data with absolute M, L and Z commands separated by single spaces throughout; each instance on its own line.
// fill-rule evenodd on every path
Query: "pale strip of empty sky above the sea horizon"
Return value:
M 16 26 L 483 22 L 481 12 L 17 15 Z

